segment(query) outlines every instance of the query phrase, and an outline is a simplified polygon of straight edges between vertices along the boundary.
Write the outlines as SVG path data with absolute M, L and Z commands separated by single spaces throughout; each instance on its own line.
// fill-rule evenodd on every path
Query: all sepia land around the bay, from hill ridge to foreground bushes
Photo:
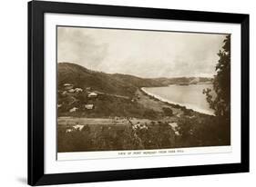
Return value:
M 222 118 L 159 101 L 140 89 L 189 83 L 194 84 L 195 77 L 144 79 L 58 64 L 58 152 L 230 144 L 230 126 L 223 125 Z M 216 80 L 214 83 L 219 86 Z M 207 95 L 209 99 L 210 91 Z

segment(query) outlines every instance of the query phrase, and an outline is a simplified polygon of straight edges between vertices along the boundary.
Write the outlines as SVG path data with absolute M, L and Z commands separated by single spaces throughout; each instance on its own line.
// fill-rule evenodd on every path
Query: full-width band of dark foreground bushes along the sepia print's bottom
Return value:
M 97 125 L 82 131 L 67 133 L 58 129 L 58 152 L 89 152 L 114 150 L 150 150 L 179 147 L 200 147 L 230 144 L 230 126 L 223 125 L 218 117 L 205 115 L 199 118 L 180 118 L 179 134 L 168 122 L 147 124 L 147 128 L 132 129 L 123 125 Z

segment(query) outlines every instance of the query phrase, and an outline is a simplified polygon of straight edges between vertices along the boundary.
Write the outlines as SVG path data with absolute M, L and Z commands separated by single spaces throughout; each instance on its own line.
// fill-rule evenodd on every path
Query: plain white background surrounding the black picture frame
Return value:
M 72 0 L 70 0 L 72 1 Z M 73 1 L 75 2 L 75 1 Z M 255 48 L 256 6 L 252 0 L 77 0 L 89 4 L 148 6 L 251 15 L 251 172 L 126 182 L 97 182 L 65 186 L 253 186 L 256 182 Z M 0 5 L 0 186 L 26 185 L 26 1 L 1 1 Z M 254 135 L 254 136 L 253 136 Z M 254 184 L 255 185 L 255 184 Z

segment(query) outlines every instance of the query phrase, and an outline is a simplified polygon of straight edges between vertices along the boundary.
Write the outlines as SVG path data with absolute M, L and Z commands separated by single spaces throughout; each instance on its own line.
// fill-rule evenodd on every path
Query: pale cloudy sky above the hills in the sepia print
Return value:
M 57 27 L 57 62 L 144 78 L 215 74 L 226 34 Z

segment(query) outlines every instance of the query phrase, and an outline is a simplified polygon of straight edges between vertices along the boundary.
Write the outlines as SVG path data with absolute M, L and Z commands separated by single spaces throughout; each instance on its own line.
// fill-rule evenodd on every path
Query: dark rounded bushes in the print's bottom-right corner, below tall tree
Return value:
M 230 144 L 230 125 L 215 116 L 179 119 L 177 147 L 217 146 Z

